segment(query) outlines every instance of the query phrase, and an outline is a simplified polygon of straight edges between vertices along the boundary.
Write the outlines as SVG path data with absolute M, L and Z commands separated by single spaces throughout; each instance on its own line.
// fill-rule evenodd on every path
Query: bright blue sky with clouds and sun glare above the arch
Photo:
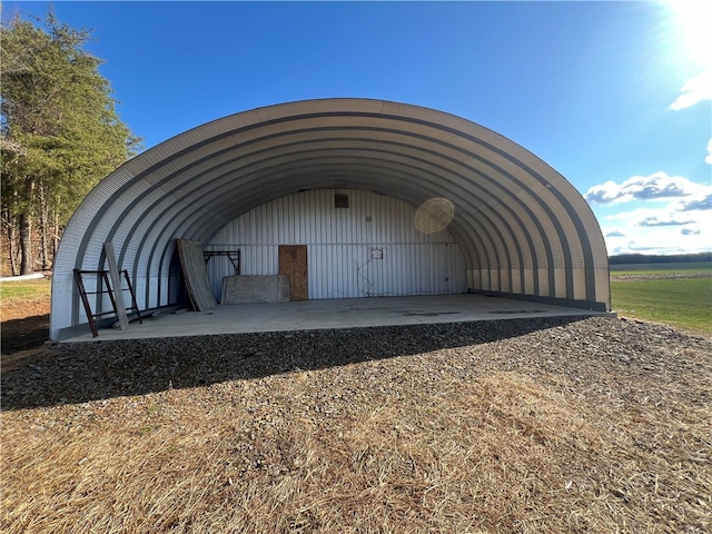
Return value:
M 4 2 L 3 19 L 47 2 Z M 359 97 L 518 142 L 609 254 L 712 249 L 712 2 L 53 2 L 150 148 L 227 115 Z

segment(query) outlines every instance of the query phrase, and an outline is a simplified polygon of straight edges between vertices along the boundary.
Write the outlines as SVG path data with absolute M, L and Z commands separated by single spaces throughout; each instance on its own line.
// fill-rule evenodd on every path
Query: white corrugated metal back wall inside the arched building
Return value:
M 334 206 L 346 194 L 348 208 Z M 279 245 L 307 245 L 309 298 L 464 293 L 465 264 L 449 231 L 418 231 L 416 209 L 384 195 L 322 189 L 280 197 L 222 228 L 206 250 L 240 249 L 243 275 L 278 273 Z M 382 250 L 380 259 L 372 250 Z M 208 278 L 216 297 L 229 259 L 215 257 Z

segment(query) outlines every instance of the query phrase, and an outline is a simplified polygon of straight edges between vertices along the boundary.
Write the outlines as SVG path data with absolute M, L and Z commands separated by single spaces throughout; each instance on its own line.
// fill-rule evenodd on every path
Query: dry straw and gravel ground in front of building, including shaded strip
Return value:
M 46 347 L 6 533 L 712 532 L 712 342 L 635 320 Z

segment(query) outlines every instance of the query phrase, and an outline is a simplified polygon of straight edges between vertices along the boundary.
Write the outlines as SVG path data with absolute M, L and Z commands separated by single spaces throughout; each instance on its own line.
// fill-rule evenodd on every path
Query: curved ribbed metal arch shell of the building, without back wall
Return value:
M 546 164 L 436 110 L 327 99 L 219 119 L 109 175 L 79 207 L 60 245 L 52 338 L 83 323 L 71 267 L 103 268 L 103 241 L 115 244 L 119 264 L 144 285 L 145 304 L 167 304 L 161 285 L 177 237 L 207 243 L 260 204 L 319 188 L 374 190 L 415 207 L 448 198 L 456 208 L 449 230 L 461 244 L 471 289 L 610 307 L 597 222 Z

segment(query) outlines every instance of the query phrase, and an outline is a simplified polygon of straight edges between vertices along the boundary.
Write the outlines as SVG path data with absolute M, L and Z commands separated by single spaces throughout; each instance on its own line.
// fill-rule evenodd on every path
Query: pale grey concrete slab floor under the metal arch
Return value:
M 62 343 L 571 316 L 615 314 L 469 294 L 234 304 L 169 313 L 126 330 L 107 328 L 96 338 L 87 333 Z

